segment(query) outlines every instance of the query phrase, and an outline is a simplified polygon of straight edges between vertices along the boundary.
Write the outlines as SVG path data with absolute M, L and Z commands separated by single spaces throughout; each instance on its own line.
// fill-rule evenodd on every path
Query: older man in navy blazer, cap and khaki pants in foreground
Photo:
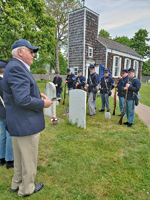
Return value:
M 40 191 L 43 183 L 34 184 L 40 131 L 45 128 L 43 108 L 51 106 L 46 95 L 39 92 L 30 73 L 37 47 L 20 39 L 12 45 L 12 59 L 3 77 L 3 98 L 6 107 L 6 124 L 12 136 L 14 176 L 11 192 L 27 196 Z

